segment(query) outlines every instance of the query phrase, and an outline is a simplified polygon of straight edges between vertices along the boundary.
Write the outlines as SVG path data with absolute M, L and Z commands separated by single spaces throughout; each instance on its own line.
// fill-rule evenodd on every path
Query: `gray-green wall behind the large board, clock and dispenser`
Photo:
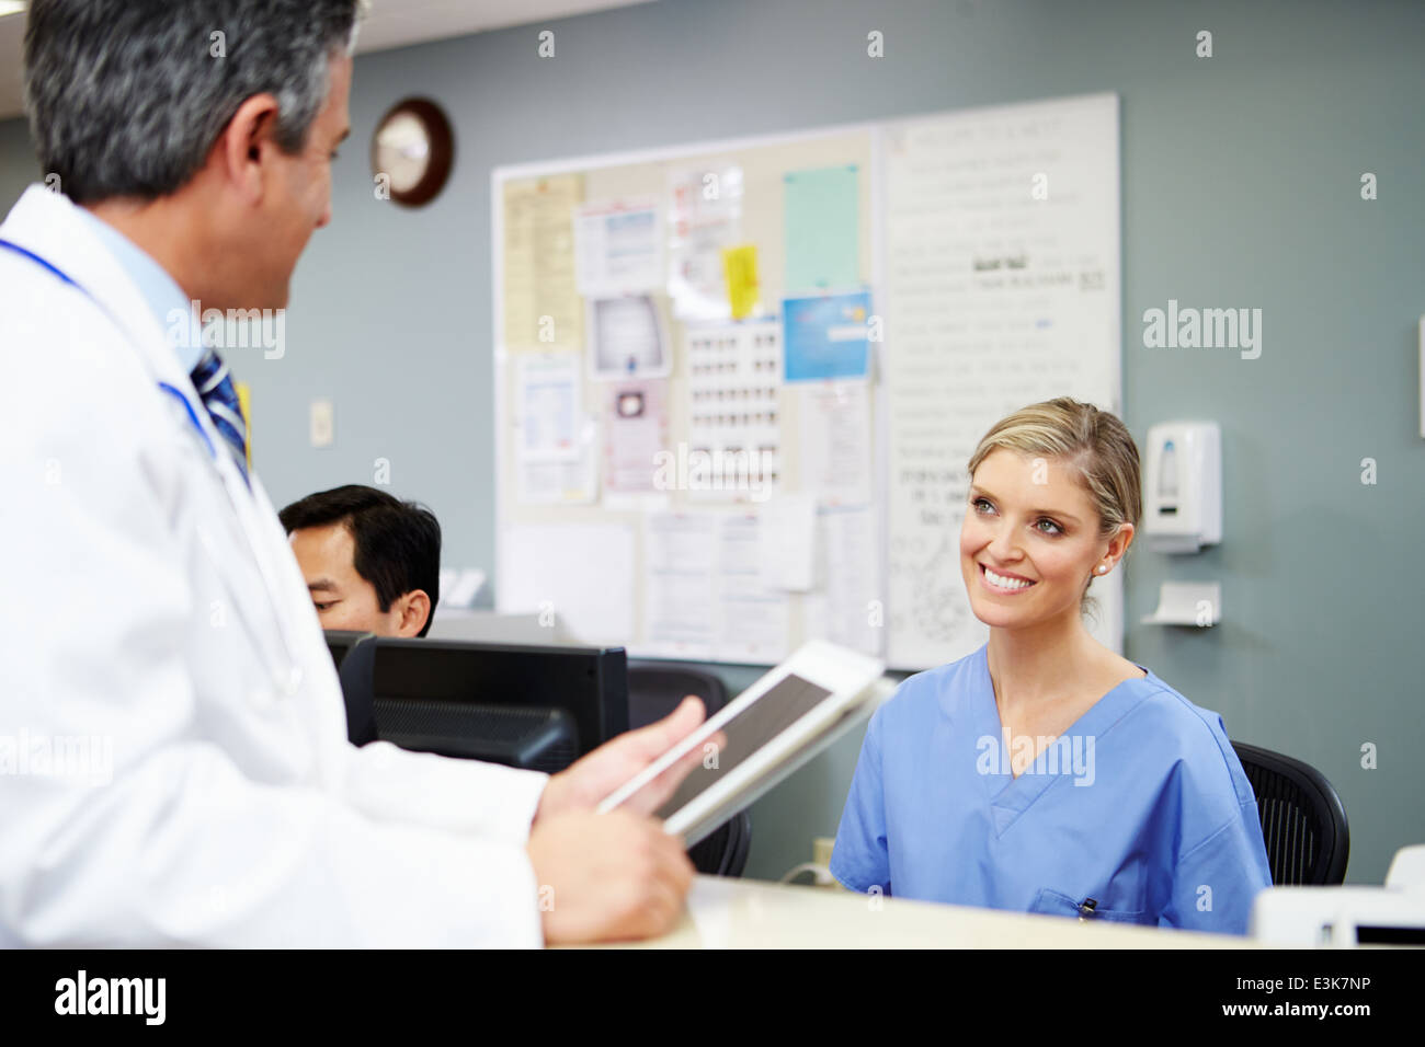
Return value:
M 536 57 L 544 27 L 553 60 Z M 1211 58 L 1194 57 L 1203 28 Z M 254 387 L 259 469 L 281 504 L 370 481 L 389 459 L 393 490 L 440 516 L 447 566 L 490 567 L 493 167 L 1117 91 L 1126 420 L 1141 439 L 1157 420 L 1217 419 L 1226 459 L 1221 547 L 1133 557 L 1127 652 L 1233 738 L 1324 771 L 1351 818 L 1348 880 L 1378 883 L 1398 846 L 1425 840 L 1422 41 L 1412 0 L 660 0 L 362 57 L 288 353 L 232 360 Z M 437 98 L 457 135 L 450 185 L 418 212 L 373 199 L 366 158 L 409 94 Z M 0 201 L 34 175 L 23 125 L 0 124 Z M 1144 349 L 1143 311 L 1170 298 L 1261 308 L 1261 358 Z M 306 442 L 316 396 L 336 405 L 323 450 Z M 1166 578 L 1220 578 L 1223 625 L 1136 624 Z M 755 677 L 720 671 L 734 691 Z M 858 746 L 754 808 L 750 875 L 775 877 L 834 835 Z

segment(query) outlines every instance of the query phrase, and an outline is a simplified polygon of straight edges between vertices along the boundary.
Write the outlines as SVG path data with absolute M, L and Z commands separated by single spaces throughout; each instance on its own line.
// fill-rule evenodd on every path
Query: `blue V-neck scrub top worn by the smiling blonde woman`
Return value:
M 1009 756 L 988 645 L 908 678 L 871 718 L 832 875 L 929 902 L 1247 932 L 1271 872 L 1220 715 L 1147 671 L 1017 779 Z

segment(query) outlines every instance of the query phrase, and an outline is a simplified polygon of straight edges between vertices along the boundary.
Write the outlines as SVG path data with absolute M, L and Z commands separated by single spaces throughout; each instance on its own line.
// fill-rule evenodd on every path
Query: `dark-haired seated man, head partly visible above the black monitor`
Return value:
M 361 484 L 278 513 L 326 630 L 423 637 L 440 598 L 440 524 L 429 509 Z

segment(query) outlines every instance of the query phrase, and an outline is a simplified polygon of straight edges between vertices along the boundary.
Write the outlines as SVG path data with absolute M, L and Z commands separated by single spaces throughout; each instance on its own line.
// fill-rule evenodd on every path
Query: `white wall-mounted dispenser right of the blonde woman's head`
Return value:
M 1149 429 L 1143 541 L 1156 553 L 1197 553 L 1223 540 L 1223 434 L 1216 422 Z

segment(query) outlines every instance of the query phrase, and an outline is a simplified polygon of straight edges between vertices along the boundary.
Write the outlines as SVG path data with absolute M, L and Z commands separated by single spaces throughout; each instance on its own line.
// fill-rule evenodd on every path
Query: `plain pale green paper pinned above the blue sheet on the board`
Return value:
M 787 293 L 861 283 L 861 184 L 855 164 L 791 171 L 782 179 Z

